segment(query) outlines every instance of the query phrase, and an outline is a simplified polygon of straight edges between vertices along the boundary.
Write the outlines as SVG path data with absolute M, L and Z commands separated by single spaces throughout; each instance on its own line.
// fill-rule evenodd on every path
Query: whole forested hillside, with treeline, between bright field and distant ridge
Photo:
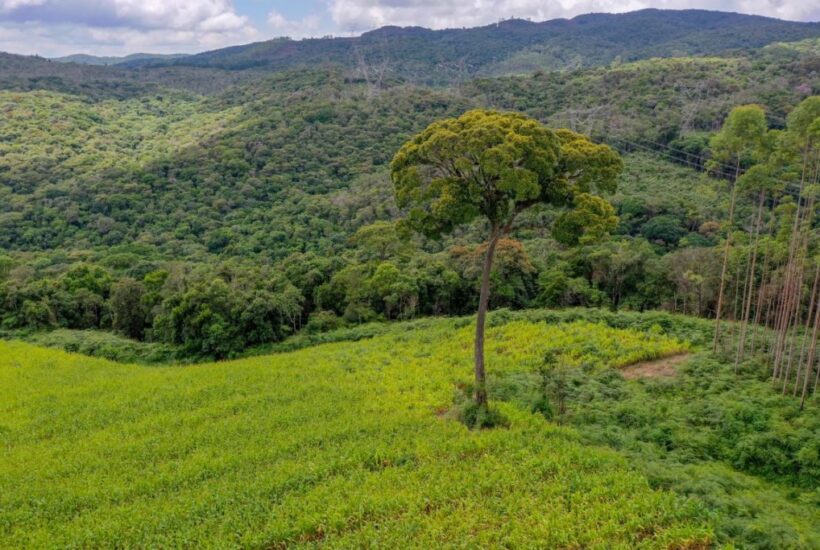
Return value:
M 502 246 L 495 307 L 706 312 L 729 199 L 721 172 L 702 172 L 709 136 L 749 102 L 782 127 L 818 90 L 817 44 L 435 89 L 374 85 L 343 67 L 241 73 L 209 96 L 60 65 L 80 76 L 0 92 L 3 326 L 113 327 L 223 356 L 306 323 L 469 312 L 480 225 L 405 242 L 387 165 L 412 133 L 475 107 L 523 111 L 626 155 L 620 237 L 565 248 L 549 237 L 553 213 L 528 214 Z M 42 64 L 54 65 L 32 66 Z M 150 70 L 207 80 L 214 69 Z M 188 326 L 202 308 L 219 319 L 217 337 L 203 332 L 212 323 Z

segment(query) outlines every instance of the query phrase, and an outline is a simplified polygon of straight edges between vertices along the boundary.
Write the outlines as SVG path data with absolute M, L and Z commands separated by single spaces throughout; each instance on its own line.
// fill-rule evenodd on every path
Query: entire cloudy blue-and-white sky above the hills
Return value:
M 820 21 L 820 0 L 0 0 L 0 51 L 194 53 L 279 36 L 351 36 L 384 25 L 474 27 L 650 7 Z

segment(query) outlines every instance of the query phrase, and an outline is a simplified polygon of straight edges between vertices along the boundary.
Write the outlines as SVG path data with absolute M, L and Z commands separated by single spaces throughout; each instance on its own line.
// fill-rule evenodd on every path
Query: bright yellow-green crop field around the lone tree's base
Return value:
M 550 347 L 587 368 L 676 353 L 578 321 L 493 327 L 490 376 Z M 0 342 L 0 547 L 698 548 L 693 501 L 514 403 L 441 413 L 470 379 L 466 320 L 270 356 L 144 367 Z

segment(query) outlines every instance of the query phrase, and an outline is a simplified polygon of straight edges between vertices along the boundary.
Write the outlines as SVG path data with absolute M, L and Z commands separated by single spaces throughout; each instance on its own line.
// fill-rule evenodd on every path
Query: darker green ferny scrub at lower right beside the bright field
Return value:
M 611 369 L 572 368 L 565 408 L 554 421 L 590 445 L 627 457 L 653 488 L 685 495 L 709 511 L 719 544 L 820 548 L 820 402 L 772 389 L 755 361 L 696 353 L 674 378 L 624 380 Z M 541 379 L 501 372 L 490 394 L 543 409 Z

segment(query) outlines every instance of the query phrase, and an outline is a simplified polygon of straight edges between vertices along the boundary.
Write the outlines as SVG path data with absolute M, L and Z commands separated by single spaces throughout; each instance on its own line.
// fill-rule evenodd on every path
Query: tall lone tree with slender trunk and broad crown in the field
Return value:
M 551 130 L 517 113 L 474 110 L 434 122 L 405 143 L 391 163 L 405 223 L 439 238 L 478 217 L 489 224 L 475 332 L 475 400 L 486 406 L 484 321 L 496 245 L 516 217 L 536 204 L 563 209 L 561 240 L 586 242 L 614 229 L 618 154 L 569 130 Z

